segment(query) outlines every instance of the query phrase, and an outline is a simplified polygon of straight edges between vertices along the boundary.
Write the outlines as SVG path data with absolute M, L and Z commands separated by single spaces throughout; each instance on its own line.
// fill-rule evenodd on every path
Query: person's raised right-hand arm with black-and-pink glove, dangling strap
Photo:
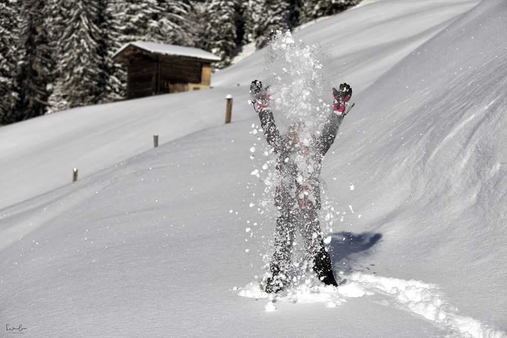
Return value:
M 335 97 L 333 112 L 331 112 L 328 121 L 324 124 L 322 134 L 317 138 L 317 147 L 321 156 L 324 156 L 329 148 L 331 148 L 331 145 L 333 145 L 338 134 L 338 129 L 347 114 L 345 105 L 352 96 L 352 88 L 346 83 L 341 84 L 339 88 L 339 90 L 333 88 L 333 96 Z

